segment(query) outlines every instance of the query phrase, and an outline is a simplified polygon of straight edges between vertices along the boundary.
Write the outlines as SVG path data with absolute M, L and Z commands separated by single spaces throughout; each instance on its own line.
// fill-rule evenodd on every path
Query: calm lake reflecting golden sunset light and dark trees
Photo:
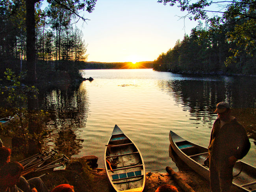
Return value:
M 251 148 L 243 161 L 256 166 L 256 78 L 201 76 L 152 69 L 81 70 L 94 81 L 41 92 L 41 105 L 52 111 L 45 142 L 65 155 L 98 157 L 117 124 L 143 155 L 147 171 L 174 170 L 169 157 L 169 131 L 207 147 L 217 114 L 216 104 L 229 102 L 249 135 Z

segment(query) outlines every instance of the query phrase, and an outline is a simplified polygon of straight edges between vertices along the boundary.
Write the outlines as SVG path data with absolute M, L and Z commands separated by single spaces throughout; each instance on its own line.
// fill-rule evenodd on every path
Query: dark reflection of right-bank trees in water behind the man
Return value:
M 256 78 L 227 77 L 221 79 L 184 78 L 160 81 L 159 86 L 174 97 L 176 103 L 189 111 L 191 120 L 212 126 L 213 111 L 221 101 L 230 103 L 232 115 L 241 122 L 251 138 L 256 139 Z M 196 124 L 196 123 L 195 123 Z

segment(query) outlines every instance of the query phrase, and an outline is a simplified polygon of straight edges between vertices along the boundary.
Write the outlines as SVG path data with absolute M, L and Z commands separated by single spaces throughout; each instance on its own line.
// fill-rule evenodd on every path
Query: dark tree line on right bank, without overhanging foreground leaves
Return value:
M 255 50 L 248 55 L 243 44 L 229 41 L 229 33 L 235 25 L 227 24 L 221 28 L 208 25 L 203 28 L 202 25 L 199 21 L 190 35 L 185 34 L 182 41 L 176 41 L 173 48 L 159 55 L 154 69 L 183 73 L 255 74 L 256 55 L 252 53 Z M 232 50 L 237 54 L 234 55 Z

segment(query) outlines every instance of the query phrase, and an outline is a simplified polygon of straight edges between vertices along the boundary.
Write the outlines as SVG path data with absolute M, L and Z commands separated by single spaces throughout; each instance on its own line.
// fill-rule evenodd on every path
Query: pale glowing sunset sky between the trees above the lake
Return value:
M 197 26 L 179 20 L 185 14 L 157 0 L 98 0 L 93 13 L 85 13 L 87 24 L 79 24 L 88 61 L 154 61 Z

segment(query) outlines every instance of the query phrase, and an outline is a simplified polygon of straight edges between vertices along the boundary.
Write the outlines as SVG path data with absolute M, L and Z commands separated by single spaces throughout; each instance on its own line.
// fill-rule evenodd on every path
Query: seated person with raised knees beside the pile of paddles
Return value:
M 19 162 L 8 162 L 0 170 L 0 192 L 49 192 L 43 181 L 35 177 L 26 181 L 22 178 L 21 187 L 17 187 L 24 167 Z M 30 185 L 33 185 L 30 186 Z M 21 189 L 22 188 L 22 189 Z

